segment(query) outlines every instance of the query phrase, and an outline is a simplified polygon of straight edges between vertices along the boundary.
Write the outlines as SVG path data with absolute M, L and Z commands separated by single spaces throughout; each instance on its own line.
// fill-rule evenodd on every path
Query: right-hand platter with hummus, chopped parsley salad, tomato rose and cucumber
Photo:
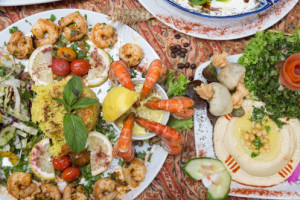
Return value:
M 300 32 L 257 32 L 214 54 L 187 85 L 197 156 L 183 166 L 207 196 L 300 198 Z

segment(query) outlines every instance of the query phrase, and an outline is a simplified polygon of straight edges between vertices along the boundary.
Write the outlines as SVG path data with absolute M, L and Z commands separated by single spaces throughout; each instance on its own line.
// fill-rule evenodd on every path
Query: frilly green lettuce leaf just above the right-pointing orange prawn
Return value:
M 179 74 L 179 76 L 176 78 L 175 71 L 169 69 L 166 80 L 167 95 L 169 97 L 185 95 L 185 89 L 189 82 L 190 81 L 185 77 L 184 74 Z

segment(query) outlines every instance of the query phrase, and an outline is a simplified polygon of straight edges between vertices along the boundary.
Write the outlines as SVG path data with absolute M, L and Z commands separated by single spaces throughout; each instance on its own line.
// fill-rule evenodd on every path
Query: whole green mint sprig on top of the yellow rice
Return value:
M 81 117 L 74 115 L 73 110 L 86 108 L 99 103 L 98 99 L 84 97 L 80 98 L 83 90 L 82 81 L 78 76 L 73 76 L 66 84 L 63 91 L 63 99 L 52 98 L 64 105 L 67 114 L 63 119 L 63 130 L 68 146 L 74 152 L 84 150 L 87 142 L 87 130 Z

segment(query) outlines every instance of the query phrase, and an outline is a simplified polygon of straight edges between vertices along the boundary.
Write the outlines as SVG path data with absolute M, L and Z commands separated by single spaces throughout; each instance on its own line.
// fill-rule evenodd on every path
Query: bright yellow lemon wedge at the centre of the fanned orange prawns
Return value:
M 103 119 L 107 122 L 115 121 L 136 102 L 139 96 L 139 93 L 124 87 L 113 87 L 103 101 Z

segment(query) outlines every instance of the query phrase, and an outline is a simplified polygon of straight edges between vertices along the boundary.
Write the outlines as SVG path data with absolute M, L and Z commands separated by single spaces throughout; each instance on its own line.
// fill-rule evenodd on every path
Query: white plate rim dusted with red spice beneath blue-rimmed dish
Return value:
M 265 30 L 282 19 L 298 0 L 282 0 L 256 15 L 232 19 L 209 19 L 185 12 L 165 0 L 139 0 L 162 23 L 184 34 L 208 40 L 232 40 Z

